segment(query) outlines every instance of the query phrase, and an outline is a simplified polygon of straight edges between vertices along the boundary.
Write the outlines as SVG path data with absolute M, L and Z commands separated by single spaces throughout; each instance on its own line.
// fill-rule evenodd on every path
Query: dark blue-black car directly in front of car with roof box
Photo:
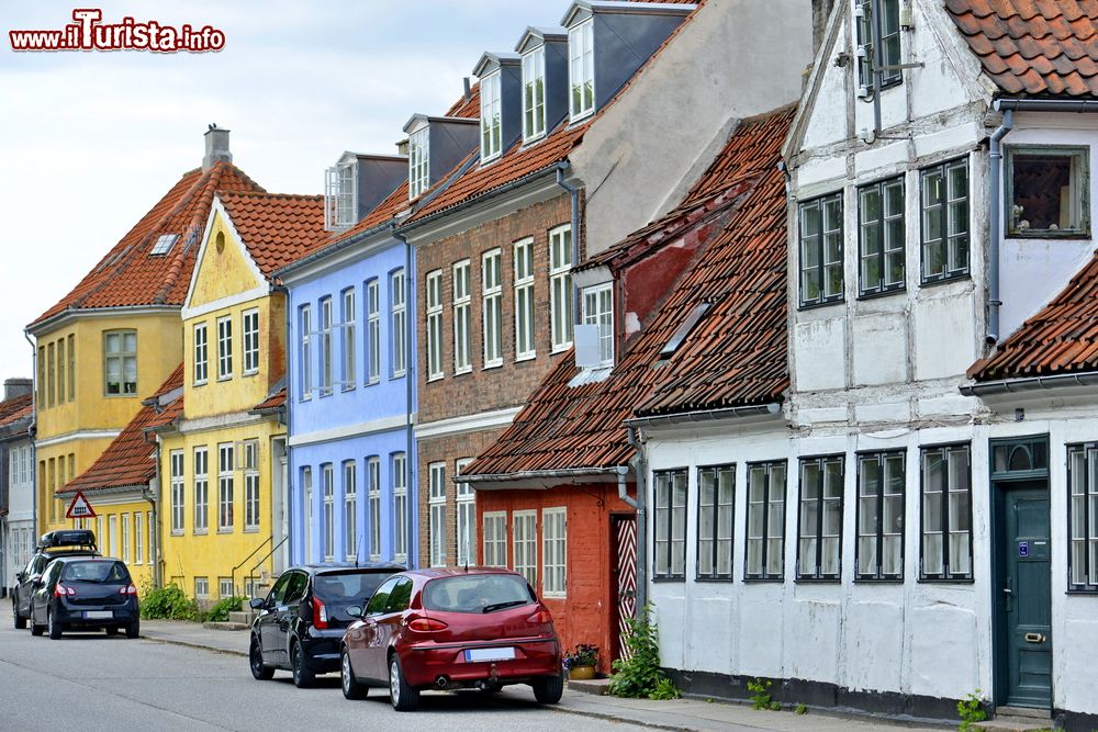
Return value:
M 30 620 L 32 635 L 48 630 L 54 640 L 66 630 L 104 629 L 124 629 L 126 638 L 137 638 L 137 588 L 121 560 L 60 556 L 34 582 Z

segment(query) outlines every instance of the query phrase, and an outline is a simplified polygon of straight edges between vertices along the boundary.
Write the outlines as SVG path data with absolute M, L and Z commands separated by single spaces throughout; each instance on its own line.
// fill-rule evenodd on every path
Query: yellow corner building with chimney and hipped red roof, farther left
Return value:
M 262 191 L 232 165 L 228 131 L 214 128 L 205 134 L 202 167 L 184 173 L 71 292 L 27 326 L 36 356 L 38 533 L 76 523 L 65 518 L 74 495 L 66 484 L 91 468 L 142 409 L 142 397 L 182 360 L 179 312 L 219 190 Z M 86 525 L 97 529 L 103 552 L 152 575 L 155 504 L 133 491 L 89 499 L 99 518 Z

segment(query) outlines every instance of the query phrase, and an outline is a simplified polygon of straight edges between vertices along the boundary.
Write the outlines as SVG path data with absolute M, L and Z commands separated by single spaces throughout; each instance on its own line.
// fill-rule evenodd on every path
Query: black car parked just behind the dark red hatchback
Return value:
M 293 674 L 303 688 L 316 674 L 339 671 L 339 642 L 354 618 L 347 608 L 366 605 L 400 564 L 310 564 L 287 570 L 265 599 L 251 600 L 248 661 L 251 675 L 268 679 L 276 668 Z

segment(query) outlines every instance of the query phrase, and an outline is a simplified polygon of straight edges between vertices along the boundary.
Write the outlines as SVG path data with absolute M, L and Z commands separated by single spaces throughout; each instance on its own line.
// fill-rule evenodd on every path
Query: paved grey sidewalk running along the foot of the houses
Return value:
M 142 637 L 164 643 L 188 645 L 220 653 L 247 656 L 247 631 L 208 630 L 197 622 L 142 620 Z M 500 699 L 527 701 L 529 689 L 507 687 Z M 914 725 L 869 717 L 809 710 L 807 714 L 792 711 L 757 711 L 747 705 L 706 701 L 701 699 L 618 699 L 564 691 L 556 707 L 558 712 L 582 714 L 610 722 L 631 722 L 659 730 L 690 732 L 942 732 L 948 727 Z

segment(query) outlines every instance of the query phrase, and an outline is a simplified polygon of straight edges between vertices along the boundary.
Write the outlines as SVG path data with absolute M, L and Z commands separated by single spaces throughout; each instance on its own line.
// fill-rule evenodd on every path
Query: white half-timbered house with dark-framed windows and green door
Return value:
M 945 4 L 831 11 L 784 156 L 789 388 L 641 405 L 652 498 L 683 486 L 650 596 L 688 691 L 1090 730 L 1098 8 Z

